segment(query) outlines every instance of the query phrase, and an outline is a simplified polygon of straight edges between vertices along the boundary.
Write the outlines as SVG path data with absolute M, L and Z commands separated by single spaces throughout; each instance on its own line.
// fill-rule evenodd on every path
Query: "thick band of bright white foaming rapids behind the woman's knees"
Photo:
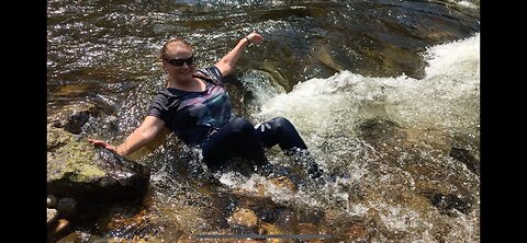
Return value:
M 299 83 L 290 93 L 276 92 L 271 96 L 269 92 L 276 88 L 255 92 L 260 111 L 254 118 L 284 116 L 304 136 L 341 131 L 352 137 L 355 121 L 374 116 L 403 127 L 474 129 L 479 127 L 479 42 L 478 34 L 428 48 L 424 56 L 429 67 L 422 80 L 406 76 L 368 78 L 341 71 L 327 79 Z M 268 83 L 247 81 L 245 85 L 262 90 Z

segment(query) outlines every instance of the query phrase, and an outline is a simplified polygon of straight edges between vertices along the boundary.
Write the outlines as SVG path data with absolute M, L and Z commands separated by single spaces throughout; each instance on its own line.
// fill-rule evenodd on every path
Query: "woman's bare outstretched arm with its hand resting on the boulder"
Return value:
M 88 141 L 94 146 L 103 147 L 124 157 L 133 153 L 152 141 L 154 138 L 156 138 L 159 131 L 162 130 L 164 127 L 165 121 L 155 116 L 147 116 L 141 126 L 136 128 L 134 132 L 132 132 L 128 138 L 126 138 L 126 140 L 116 148 L 101 140 L 88 139 Z

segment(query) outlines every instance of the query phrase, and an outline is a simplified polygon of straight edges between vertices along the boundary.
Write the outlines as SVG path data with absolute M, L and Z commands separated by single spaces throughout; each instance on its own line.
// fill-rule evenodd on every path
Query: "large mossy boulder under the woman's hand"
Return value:
M 141 200 L 149 170 L 61 128 L 47 130 L 47 193 L 71 197 L 79 207 Z

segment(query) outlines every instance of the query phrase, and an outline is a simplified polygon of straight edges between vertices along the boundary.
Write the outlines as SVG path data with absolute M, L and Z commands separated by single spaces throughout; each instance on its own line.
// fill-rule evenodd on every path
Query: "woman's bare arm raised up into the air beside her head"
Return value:
M 220 61 L 216 62 L 216 67 L 222 71 L 223 77 L 227 77 L 231 71 L 233 71 L 236 61 L 238 61 L 239 57 L 242 56 L 242 50 L 244 47 L 248 46 L 251 43 L 260 44 L 264 42 L 264 37 L 256 32 L 250 33 L 249 35 L 245 36 L 244 38 L 238 40 L 238 44 L 228 51 L 227 55 L 222 57 Z

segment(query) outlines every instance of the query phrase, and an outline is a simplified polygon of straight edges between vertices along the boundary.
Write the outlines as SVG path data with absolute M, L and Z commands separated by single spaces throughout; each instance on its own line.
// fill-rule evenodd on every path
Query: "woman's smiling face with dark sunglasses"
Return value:
M 162 67 L 176 81 L 192 78 L 195 69 L 192 49 L 181 45 L 167 46 Z

